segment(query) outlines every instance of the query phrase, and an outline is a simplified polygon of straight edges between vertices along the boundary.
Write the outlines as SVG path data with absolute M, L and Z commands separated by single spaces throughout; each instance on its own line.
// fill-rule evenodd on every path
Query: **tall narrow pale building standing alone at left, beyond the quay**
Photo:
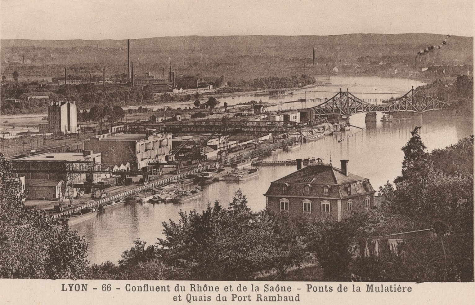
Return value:
M 53 134 L 77 133 L 76 102 L 51 102 L 48 106 L 48 129 Z

